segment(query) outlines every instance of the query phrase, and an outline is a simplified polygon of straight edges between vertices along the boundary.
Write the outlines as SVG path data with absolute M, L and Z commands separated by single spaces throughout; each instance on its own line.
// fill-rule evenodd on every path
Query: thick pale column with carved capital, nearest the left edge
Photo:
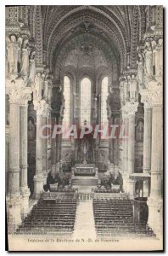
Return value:
M 8 232 L 14 232 L 21 223 L 20 211 L 20 88 L 9 81 L 9 170 L 8 170 Z M 8 84 L 7 84 L 8 86 Z

